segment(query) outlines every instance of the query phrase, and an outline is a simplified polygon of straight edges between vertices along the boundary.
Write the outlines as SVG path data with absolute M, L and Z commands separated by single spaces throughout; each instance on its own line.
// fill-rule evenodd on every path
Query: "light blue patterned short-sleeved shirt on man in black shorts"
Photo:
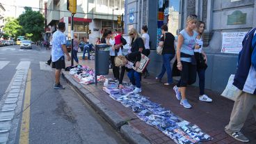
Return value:
M 64 51 L 61 45 L 66 45 L 66 36 L 61 31 L 56 31 L 52 35 L 51 61 L 58 61 L 61 56 L 64 56 Z

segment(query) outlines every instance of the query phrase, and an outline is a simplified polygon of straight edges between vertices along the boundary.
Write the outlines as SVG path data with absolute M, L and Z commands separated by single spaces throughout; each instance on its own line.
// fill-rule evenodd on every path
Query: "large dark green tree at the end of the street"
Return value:
M 25 12 L 18 17 L 19 24 L 22 26 L 22 35 L 31 33 L 31 40 L 41 40 L 42 33 L 44 32 L 45 18 L 39 11 L 33 11 L 29 7 L 25 7 L 24 9 Z

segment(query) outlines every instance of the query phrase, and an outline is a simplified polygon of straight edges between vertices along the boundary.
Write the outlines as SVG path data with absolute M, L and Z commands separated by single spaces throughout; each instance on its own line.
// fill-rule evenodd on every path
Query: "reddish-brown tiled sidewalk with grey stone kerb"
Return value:
M 79 61 L 80 65 L 87 65 L 92 68 L 94 68 L 94 63 L 94 61 Z M 66 62 L 66 65 L 70 65 L 70 62 Z M 63 72 L 63 74 L 68 81 L 71 81 L 70 76 L 68 76 L 67 72 Z M 109 75 L 106 77 L 113 77 L 112 70 L 110 70 Z M 128 81 L 127 77 L 125 78 L 125 81 Z M 163 82 L 165 82 L 164 79 Z M 71 83 L 74 83 L 74 81 L 71 81 Z M 75 81 L 75 83 L 77 83 L 77 81 Z M 81 87 L 81 85 L 79 87 L 79 85 L 74 84 L 73 86 L 77 86 L 77 90 L 79 90 L 79 88 Z M 198 100 L 199 88 L 190 86 L 187 90 L 187 98 L 189 99 L 189 102 L 191 102 L 191 104 L 193 105 L 193 108 L 184 109 L 175 97 L 173 86 L 174 85 L 163 86 L 163 83 L 159 83 L 158 81 L 156 81 L 154 79 L 154 76 L 150 76 L 147 79 L 142 79 L 143 92 L 141 94 L 145 95 L 146 97 L 150 97 L 150 100 L 152 102 L 156 102 L 158 104 L 161 104 L 163 107 L 170 109 L 179 117 L 184 118 L 184 120 L 198 125 L 203 131 L 214 137 L 213 141 L 203 143 L 239 143 L 238 141 L 235 141 L 233 138 L 225 134 L 224 131 L 225 125 L 227 125 L 230 120 L 230 113 L 232 111 L 232 106 L 234 102 L 229 99 L 225 99 L 224 97 L 221 97 L 219 93 L 214 93 L 211 90 L 206 90 L 206 94 L 213 99 L 213 102 L 200 102 Z M 106 106 L 106 109 L 109 109 L 110 111 L 118 114 L 120 122 L 113 123 L 116 124 L 114 125 L 114 127 L 116 127 L 117 129 L 121 128 L 121 133 L 124 132 L 122 131 L 122 125 L 125 125 L 124 122 L 127 122 L 128 126 L 131 127 L 130 130 L 132 130 L 133 132 L 135 131 L 136 134 L 140 134 L 140 138 L 146 138 L 148 141 L 150 141 L 150 143 L 174 143 L 168 136 L 161 133 L 161 131 L 139 120 L 136 115 L 134 115 L 134 113 L 131 111 L 131 109 L 127 109 L 119 102 L 115 102 L 113 99 L 111 99 L 111 97 L 109 97 L 102 90 L 102 83 L 99 83 L 98 86 L 91 84 L 88 86 L 84 86 L 84 88 L 87 90 L 87 92 L 84 91 L 84 93 L 93 94 L 90 95 L 91 98 L 92 96 L 95 97 L 97 100 L 99 100 L 99 102 Z M 100 114 L 102 114 L 103 117 L 106 116 L 104 115 L 104 113 Z M 246 124 L 243 127 L 243 133 L 248 136 L 248 138 L 250 139 L 250 143 L 256 143 L 256 122 L 253 118 L 253 114 L 250 113 L 249 115 L 250 116 L 246 120 Z M 108 120 L 108 118 L 105 119 Z M 132 137 L 134 137 L 134 135 L 124 135 L 133 143 L 138 143 L 138 141 L 132 140 Z

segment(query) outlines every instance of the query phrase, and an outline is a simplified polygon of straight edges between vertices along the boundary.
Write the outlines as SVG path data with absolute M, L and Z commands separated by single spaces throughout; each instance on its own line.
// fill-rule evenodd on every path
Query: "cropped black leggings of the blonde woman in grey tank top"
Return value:
M 182 72 L 180 72 L 181 78 L 179 79 L 178 87 L 186 87 L 195 83 L 196 80 L 196 65 L 192 63 L 182 61 Z

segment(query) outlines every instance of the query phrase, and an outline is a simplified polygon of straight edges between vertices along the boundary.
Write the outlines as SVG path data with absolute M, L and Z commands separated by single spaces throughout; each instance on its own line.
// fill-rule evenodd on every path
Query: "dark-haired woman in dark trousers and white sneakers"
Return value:
M 194 49 L 194 52 L 199 77 L 199 100 L 203 102 L 212 102 L 212 99 L 205 95 L 205 70 L 207 69 L 207 56 L 205 52 L 202 50 L 202 33 L 205 30 L 205 22 L 198 21 L 198 23 L 196 24 L 196 30 L 198 32 L 196 43 L 198 44 L 199 49 Z

